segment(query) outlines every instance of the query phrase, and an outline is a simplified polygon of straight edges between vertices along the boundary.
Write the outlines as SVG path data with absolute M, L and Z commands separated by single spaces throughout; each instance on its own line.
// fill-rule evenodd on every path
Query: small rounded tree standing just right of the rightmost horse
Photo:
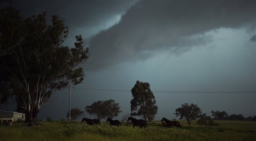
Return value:
M 174 115 L 180 116 L 180 119 L 186 118 L 187 124 L 190 125 L 192 120 L 195 120 L 200 117 L 202 113 L 201 108 L 197 107 L 195 104 L 188 105 L 187 103 L 182 104 L 180 108 L 177 108 Z

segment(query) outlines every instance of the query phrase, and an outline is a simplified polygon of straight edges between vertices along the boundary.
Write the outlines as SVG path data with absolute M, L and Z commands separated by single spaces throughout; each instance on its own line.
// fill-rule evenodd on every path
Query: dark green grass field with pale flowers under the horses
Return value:
M 101 121 L 89 126 L 81 122 L 39 122 L 29 127 L 21 123 L 0 125 L 0 141 L 256 141 L 256 121 L 215 121 L 218 127 L 198 126 L 196 121 L 180 128 L 163 128 L 160 121 L 149 122 L 147 128 L 132 128 L 130 122 L 121 127 Z

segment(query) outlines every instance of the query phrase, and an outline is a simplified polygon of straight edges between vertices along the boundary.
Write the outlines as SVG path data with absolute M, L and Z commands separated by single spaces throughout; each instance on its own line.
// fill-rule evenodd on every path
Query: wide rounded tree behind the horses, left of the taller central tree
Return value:
M 115 103 L 113 99 L 107 101 L 93 102 L 92 105 L 87 105 L 85 111 L 90 115 L 95 115 L 97 118 L 114 118 L 118 116 L 120 112 L 120 106 Z

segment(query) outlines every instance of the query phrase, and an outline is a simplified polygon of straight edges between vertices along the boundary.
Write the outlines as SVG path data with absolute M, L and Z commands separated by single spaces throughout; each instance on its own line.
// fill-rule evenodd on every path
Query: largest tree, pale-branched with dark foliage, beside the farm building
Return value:
M 6 84 L 30 124 L 36 123 L 39 109 L 53 92 L 83 81 L 83 69 L 77 66 L 86 61 L 89 51 L 83 48 L 81 35 L 76 36 L 73 48 L 63 46 L 68 27 L 56 15 L 47 24 L 45 16 L 23 20 L 19 11 L 7 7 L 0 17 L 0 50 L 4 53 L 0 71 L 10 74 Z

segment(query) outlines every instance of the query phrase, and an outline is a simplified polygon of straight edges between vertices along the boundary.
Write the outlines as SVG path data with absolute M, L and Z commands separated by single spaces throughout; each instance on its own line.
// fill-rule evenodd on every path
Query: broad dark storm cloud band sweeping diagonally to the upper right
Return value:
M 121 20 L 92 37 L 91 69 L 147 59 L 158 50 L 182 53 L 211 41 L 207 32 L 256 22 L 256 1 L 139 1 Z

